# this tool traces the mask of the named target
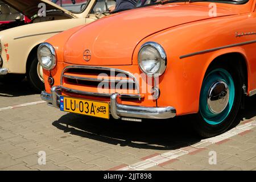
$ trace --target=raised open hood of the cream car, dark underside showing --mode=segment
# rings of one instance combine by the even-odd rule
[[[65,10],[63,7],[56,5],[48,0],[2,0],[7,5],[13,7],[15,10],[19,11],[23,15],[31,18],[35,14],[38,14],[39,3],[44,3],[46,5],[46,10],[61,10],[67,14],[73,15],[70,11]],[[75,16],[75,15],[73,15]]]

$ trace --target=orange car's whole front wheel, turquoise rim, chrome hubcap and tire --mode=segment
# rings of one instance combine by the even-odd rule
[[[224,133],[240,109],[242,80],[235,68],[213,67],[204,77],[195,129],[201,137]]]

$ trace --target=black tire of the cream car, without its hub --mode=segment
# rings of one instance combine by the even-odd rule
[[[33,89],[38,92],[44,90],[44,82],[40,80],[38,76],[38,59],[37,57],[32,60],[31,65],[27,72],[27,80]]]

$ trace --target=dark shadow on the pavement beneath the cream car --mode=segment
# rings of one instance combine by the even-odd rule
[[[1,82],[0,80],[0,97],[19,97],[38,93],[31,88],[26,78],[16,82]]]

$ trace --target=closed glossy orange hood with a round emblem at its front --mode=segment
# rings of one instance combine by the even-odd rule
[[[133,51],[141,40],[170,27],[209,19],[208,12],[208,3],[172,3],[112,14],[70,36],[64,48],[64,61],[84,65],[130,65]],[[231,10],[218,7],[217,16],[232,14]],[[88,54],[90,60],[85,61]]]

